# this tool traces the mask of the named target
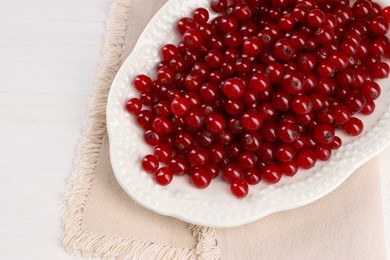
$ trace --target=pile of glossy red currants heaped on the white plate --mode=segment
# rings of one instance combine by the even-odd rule
[[[238,198],[326,161],[363,131],[389,75],[390,7],[368,0],[211,0],[177,22],[157,76],[138,75],[126,109],[161,185],[188,175],[206,188],[220,173]],[[144,106],[144,108],[143,108]]]

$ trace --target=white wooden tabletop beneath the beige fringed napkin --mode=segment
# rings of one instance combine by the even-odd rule
[[[110,4],[0,1],[0,259],[74,259],[59,242],[62,200]],[[389,191],[390,149],[382,158]]]

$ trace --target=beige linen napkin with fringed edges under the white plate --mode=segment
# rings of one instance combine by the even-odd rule
[[[64,213],[64,247],[109,259],[385,259],[378,163],[308,206],[229,229],[190,225],[136,204],[113,175],[107,94],[120,64],[164,0],[117,0]]]

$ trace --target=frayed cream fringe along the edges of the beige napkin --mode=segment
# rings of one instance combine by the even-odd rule
[[[83,231],[84,208],[101,156],[106,133],[106,103],[111,83],[120,68],[131,0],[115,0],[107,22],[103,61],[96,80],[95,94],[89,104],[83,138],[74,163],[74,173],[65,195],[62,244],[74,255],[105,259],[220,259],[215,230],[189,225],[197,239],[196,249],[124,239]]]

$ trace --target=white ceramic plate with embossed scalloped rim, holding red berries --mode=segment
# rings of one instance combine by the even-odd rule
[[[169,186],[153,181],[153,175],[140,167],[141,158],[151,153],[143,141],[142,130],[123,109],[129,97],[138,93],[131,87],[135,75],[155,75],[158,50],[166,43],[177,43],[176,21],[190,16],[197,7],[208,8],[209,0],[170,0],[146,27],[133,52],[118,72],[107,103],[107,127],[111,164],[122,188],[142,206],[157,213],[193,224],[232,227],[255,221],[271,213],[313,202],[336,189],[360,165],[379,153],[390,141],[390,80],[380,83],[382,95],[377,109],[361,117],[365,130],[350,138],[338,133],[343,146],[327,162],[310,170],[299,170],[294,177],[283,177],[276,185],[260,183],[250,187],[242,200],[231,195],[228,185],[214,180],[205,190],[189,184],[189,178],[176,177]],[[367,173],[369,178],[369,173]]]

